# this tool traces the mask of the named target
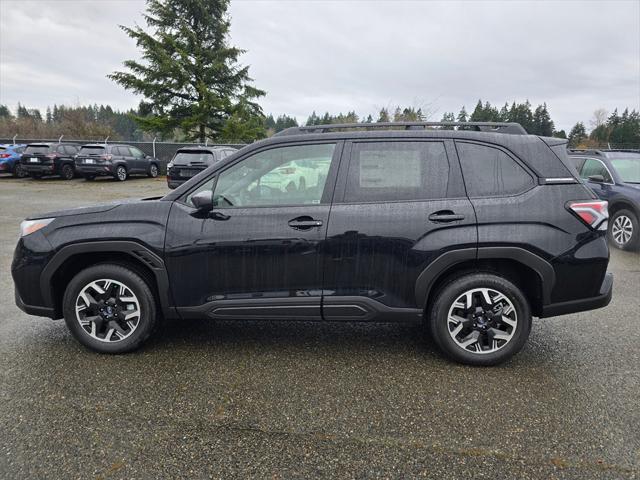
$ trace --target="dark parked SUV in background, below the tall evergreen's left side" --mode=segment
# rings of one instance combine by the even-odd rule
[[[124,182],[134,173],[157,177],[160,162],[131,145],[95,143],[82,146],[76,157],[76,170],[86,180],[106,175]]]

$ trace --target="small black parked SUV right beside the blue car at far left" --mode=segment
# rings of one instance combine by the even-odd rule
[[[30,143],[22,153],[20,165],[33,178],[59,175],[65,180],[72,180],[78,148],[72,143]]]

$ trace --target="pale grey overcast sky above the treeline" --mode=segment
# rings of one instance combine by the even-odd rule
[[[0,0],[0,103],[135,107],[106,78],[138,58],[119,24],[143,0]],[[640,109],[640,0],[231,3],[266,113],[414,105],[433,112],[547,102],[557,128],[597,108]]]

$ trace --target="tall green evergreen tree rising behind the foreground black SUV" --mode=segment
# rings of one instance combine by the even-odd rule
[[[204,142],[237,134],[235,126],[222,132],[232,116],[234,122],[258,117],[262,125],[256,100],[265,92],[251,85],[249,67],[238,64],[243,51],[228,45],[228,6],[229,0],[147,0],[148,31],[122,26],[144,62],[127,60],[126,71],[109,78],[144,96],[148,113],[136,116],[143,129],[179,129]]]

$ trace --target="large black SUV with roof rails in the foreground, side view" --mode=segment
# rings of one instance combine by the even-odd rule
[[[607,203],[566,141],[433,125],[296,127],[165,197],[32,216],[16,302],[100,352],[167,317],[424,320],[478,365],[519,351],[534,316],[607,305]]]

